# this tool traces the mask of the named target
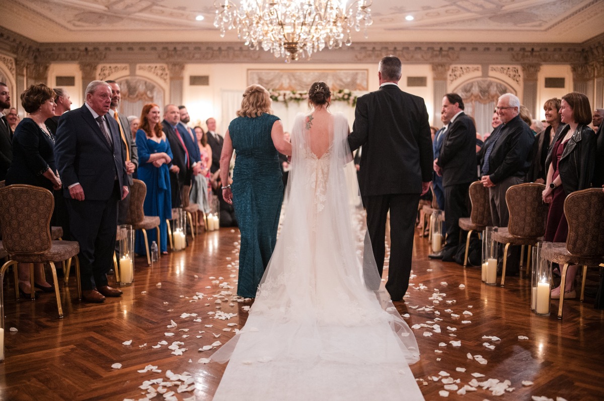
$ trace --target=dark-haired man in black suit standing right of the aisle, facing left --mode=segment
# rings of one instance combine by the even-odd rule
[[[457,93],[443,97],[442,119],[450,121],[434,159],[434,171],[443,177],[445,189],[445,247],[429,254],[432,259],[453,260],[459,245],[459,219],[469,217],[470,184],[476,179],[476,127],[464,112],[463,99]]]

